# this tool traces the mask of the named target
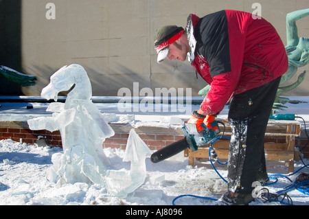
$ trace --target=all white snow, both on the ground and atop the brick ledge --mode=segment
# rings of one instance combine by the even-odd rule
[[[278,113],[295,113],[304,117],[309,124],[309,97],[290,97],[290,100],[301,101],[299,104],[286,104],[286,111]],[[25,120],[42,115],[48,104],[33,103],[33,108],[26,108],[27,103],[0,103],[0,121]],[[119,113],[117,104],[96,104],[108,122],[128,122],[132,126],[181,126],[179,119],[190,117],[190,111],[183,113]],[[196,110],[192,105],[190,110]],[[227,117],[228,107],[220,113]],[[304,128],[304,126],[302,126]],[[307,126],[308,127],[308,126]],[[58,185],[47,181],[47,170],[52,167],[52,154],[61,152],[61,148],[38,147],[12,140],[0,141],[0,205],[172,205],[174,198],[190,194],[218,199],[227,190],[225,181],[215,172],[208,159],[195,162],[195,166],[187,165],[183,153],[162,161],[152,163],[150,154],[146,157],[147,177],[143,185],[119,199],[108,194],[104,184],[88,185],[86,183]],[[124,150],[106,148],[104,152],[115,170],[130,169],[130,163],[123,162]],[[305,159],[308,164],[308,159]],[[215,168],[223,176],[227,176],[226,165],[215,163]],[[282,162],[267,161],[268,174],[287,174],[288,168]],[[295,162],[295,170],[304,166],[301,161]],[[308,172],[308,168],[300,172]],[[292,181],[300,173],[289,176]],[[284,177],[273,185],[268,185],[270,192],[277,192],[290,185]],[[297,189],[288,190],[294,205],[309,205],[309,196]],[[175,205],[212,205],[214,200],[183,197],[175,200]],[[251,205],[278,205],[279,203],[262,203],[260,200]]]

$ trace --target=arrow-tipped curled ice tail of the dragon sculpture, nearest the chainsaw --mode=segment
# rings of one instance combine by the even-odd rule
[[[130,130],[126,152],[123,161],[130,161],[130,171],[109,170],[106,172],[106,185],[108,192],[119,197],[126,196],[142,185],[146,178],[146,154],[150,149],[134,129]]]

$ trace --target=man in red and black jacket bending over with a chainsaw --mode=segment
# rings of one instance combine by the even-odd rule
[[[252,183],[268,178],[264,135],[288,57],[275,28],[262,18],[222,10],[199,18],[190,14],[187,27],[168,25],[156,32],[157,61],[185,61],[211,85],[188,123],[208,128],[225,104],[232,129],[229,146],[228,192],[220,199],[229,205],[253,200]]]

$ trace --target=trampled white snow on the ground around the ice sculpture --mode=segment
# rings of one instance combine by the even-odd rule
[[[12,140],[0,141],[0,205],[172,205],[172,200],[183,194],[220,198],[227,185],[216,174],[209,161],[196,161],[196,166],[187,165],[183,153],[152,163],[146,156],[146,178],[126,198],[117,198],[104,184],[67,183],[59,185],[47,180],[52,167],[52,155],[62,152],[61,148],[38,147]],[[104,149],[113,169],[130,170],[130,162],[123,162],[125,151]],[[305,160],[308,163],[308,160]],[[268,174],[286,174],[284,163],[267,162]],[[227,176],[226,166],[215,164],[223,177]],[[295,170],[303,165],[295,163]],[[305,168],[303,172],[308,172]],[[295,174],[296,178],[297,174]],[[293,178],[293,179],[294,179]],[[270,192],[284,189],[290,182],[285,178],[269,185]],[[294,205],[308,205],[309,196],[296,189],[288,192]],[[179,198],[176,205],[211,205],[214,201],[201,198]],[[252,205],[277,205],[261,203]]]

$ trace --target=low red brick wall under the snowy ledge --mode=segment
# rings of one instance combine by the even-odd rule
[[[111,124],[115,135],[104,141],[104,148],[126,148],[128,133],[132,127]],[[141,139],[149,146],[150,150],[159,150],[170,145],[174,141],[183,139],[182,130],[172,128],[157,127],[139,127],[135,131]],[[38,137],[45,137],[45,141],[49,146],[62,146],[61,135],[59,131],[49,132],[47,130],[30,130],[26,122],[0,122],[0,140],[12,139],[13,141],[22,141],[24,143],[36,143]],[[284,143],[284,139],[273,138],[266,139],[267,142]],[[305,158],[309,158],[308,139],[304,132],[300,137],[296,138],[296,148],[304,154]],[[306,146],[306,147],[305,147]]]

